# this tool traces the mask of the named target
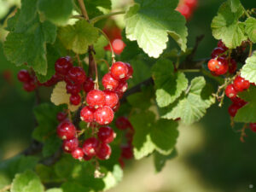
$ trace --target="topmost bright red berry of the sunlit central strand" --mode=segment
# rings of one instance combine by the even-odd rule
[[[110,69],[111,76],[117,80],[125,79],[128,75],[128,71],[128,67],[125,63],[120,61],[113,63]]]

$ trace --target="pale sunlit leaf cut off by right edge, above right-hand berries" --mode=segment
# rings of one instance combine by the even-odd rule
[[[241,68],[241,77],[256,84],[256,51],[247,58],[246,64]]]

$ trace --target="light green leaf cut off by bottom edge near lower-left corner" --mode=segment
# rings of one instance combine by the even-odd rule
[[[26,171],[15,176],[11,192],[44,192],[44,186],[39,177],[32,171]]]

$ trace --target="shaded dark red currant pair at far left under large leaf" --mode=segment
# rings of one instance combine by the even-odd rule
[[[23,83],[23,89],[27,92],[35,90],[39,85],[35,74],[29,73],[26,69],[21,69],[17,78]]]

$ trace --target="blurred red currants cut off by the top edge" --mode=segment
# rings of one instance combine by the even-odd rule
[[[197,6],[197,3],[197,0],[180,0],[176,10],[180,12],[186,20],[189,20]]]

